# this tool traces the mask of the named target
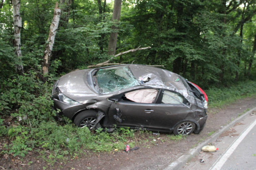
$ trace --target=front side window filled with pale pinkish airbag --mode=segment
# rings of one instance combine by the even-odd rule
[[[125,97],[137,103],[153,103],[157,93],[157,89],[139,89],[125,93]]]

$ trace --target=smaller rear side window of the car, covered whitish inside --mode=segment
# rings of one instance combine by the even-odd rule
[[[165,90],[163,92],[162,103],[163,104],[182,104],[184,98],[178,93]]]

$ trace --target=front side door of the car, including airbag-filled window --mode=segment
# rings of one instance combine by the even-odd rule
[[[113,103],[109,109],[109,123],[118,127],[149,127],[158,93],[159,89],[142,88],[110,98]]]

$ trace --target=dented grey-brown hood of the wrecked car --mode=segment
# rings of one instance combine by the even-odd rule
[[[58,80],[59,90],[67,97],[81,102],[97,96],[88,84],[87,75],[91,69],[78,70],[63,75]]]

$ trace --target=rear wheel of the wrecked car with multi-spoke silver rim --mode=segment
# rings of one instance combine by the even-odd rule
[[[179,123],[174,129],[175,135],[190,135],[195,130],[195,123],[191,121],[183,121]]]

